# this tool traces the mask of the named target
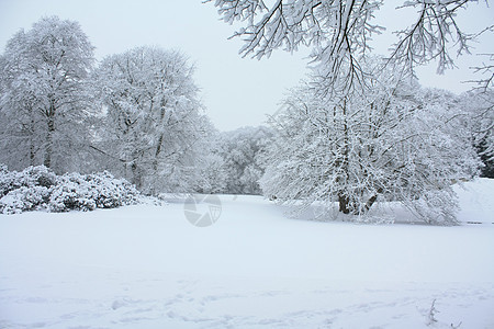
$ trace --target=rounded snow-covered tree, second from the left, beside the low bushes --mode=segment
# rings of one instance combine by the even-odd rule
[[[193,67],[177,52],[138,47],[109,56],[96,72],[105,110],[98,149],[112,172],[147,193],[190,191],[212,126]]]

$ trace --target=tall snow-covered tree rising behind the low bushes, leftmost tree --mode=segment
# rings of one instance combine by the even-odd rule
[[[93,47],[79,24],[44,18],[7,44],[1,65],[0,161],[14,169],[80,169],[90,116]]]

